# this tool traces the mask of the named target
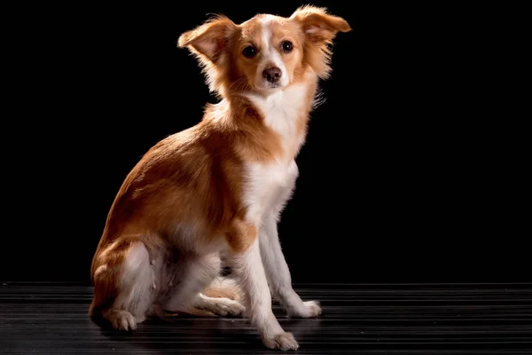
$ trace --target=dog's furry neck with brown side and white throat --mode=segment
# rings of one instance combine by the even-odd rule
[[[239,152],[251,154],[252,160],[292,162],[305,141],[316,93],[313,71],[267,94],[226,93],[218,104],[207,105],[204,123],[222,133],[231,132]]]

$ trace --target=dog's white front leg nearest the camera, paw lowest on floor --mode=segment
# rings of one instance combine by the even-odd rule
[[[233,234],[230,243],[238,246],[231,260],[235,276],[244,291],[247,317],[257,327],[262,343],[268,348],[297,350],[299,344],[291,333],[283,330],[271,310],[270,289],[262,265],[256,228],[246,228],[246,233],[254,235]]]

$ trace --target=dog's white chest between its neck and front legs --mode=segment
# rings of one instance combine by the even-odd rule
[[[295,161],[248,164],[244,188],[246,219],[261,225],[264,217],[278,215],[290,199],[299,171]]]

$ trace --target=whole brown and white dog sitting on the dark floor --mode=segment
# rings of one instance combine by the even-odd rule
[[[277,223],[318,80],[331,71],[332,39],[350,29],[304,6],[239,25],[218,16],[179,37],[221,100],[126,177],[92,262],[92,317],[128,330],[161,312],[246,315],[268,348],[299,347],[271,311],[271,295],[293,317],[321,308],[293,291]],[[222,256],[233,281],[219,278]]]

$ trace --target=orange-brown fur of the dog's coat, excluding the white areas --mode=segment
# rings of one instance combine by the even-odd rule
[[[175,249],[200,254],[208,244],[226,243],[231,252],[242,253],[257,238],[257,228],[245,222],[242,205],[245,162],[293,159],[305,137],[309,111],[317,83],[307,83],[305,105],[298,116],[293,144],[283,147],[278,133],[242,91],[254,91],[254,59],[240,55],[252,43],[260,50],[257,19],[241,25],[223,16],[184,33],[180,47],[199,59],[207,83],[223,101],[208,105],[203,120],[153,146],[131,170],[116,195],[91,265],[94,298],[90,313],[109,309],[117,297],[121,265],[136,242],[148,253],[171,256]],[[309,28],[314,28],[306,32]],[[347,22],[322,9],[304,7],[289,19],[271,24],[274,40],[293,42],[283,54],[291,83],[305,81],[310,69],[329,74],[331,52],[327,45]],[[312,44],[309,44],[312,43]],[[256,70],[255,70],[256,71]],[[186,221],[197,229],[197,239],[176,237],[176,225]],[[239,299],[239,291],[223,286],[205,290],[207,296]],[[196,310],[197,311],[197,310]],[[199,314],[200,311],[194,314]]]

